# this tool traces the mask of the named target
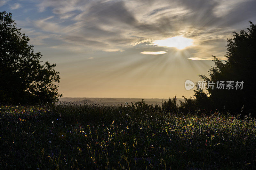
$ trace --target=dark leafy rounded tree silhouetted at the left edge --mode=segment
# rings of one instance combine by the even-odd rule
[[[42,55],[28,45],[29,38],[16,27],[11,13],[0,12],[0,103],[52,103],[58,93],[56,64],[41,64]]]

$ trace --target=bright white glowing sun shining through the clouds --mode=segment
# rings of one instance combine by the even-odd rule
[[[171,37],[164,40],[153,41],[153,44],[160,47],[175,47],[178,49],[184,49],[188,46],[192,46],[194,43],[193,43],[193,40],[190,38],[176,36],[176,37]]]

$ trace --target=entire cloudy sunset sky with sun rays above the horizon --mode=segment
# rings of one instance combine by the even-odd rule
[[[232,31],[256,23],[255,0],[0,0],[63,97],[181,98],[185,81],[225,60]]]

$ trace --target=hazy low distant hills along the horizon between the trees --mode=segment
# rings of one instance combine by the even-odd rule
[[[171,98],[172,99],[172,98]],[[143,99],[146,104],[158,104],[162,106],[162,101],[168,100],[168,99]],[[184,99],[177,98],[177,104],[180,104],[180,100],[184,101]],[[115,105],[115,106],[121,106],[121,105],[131,105],[132,103],[135,103],[137,101],[141,101],[141,98],[86,98],[86,97],[80,97],[80,98],[72,98],[72,97],[61,97],[59,98],[59,103],[69,103],[69,104],[99,104],[99,105]]]

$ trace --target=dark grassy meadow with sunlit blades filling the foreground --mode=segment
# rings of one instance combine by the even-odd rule
[[[256,120],[109,106],[0,107],[0,167],[253,169]]]

